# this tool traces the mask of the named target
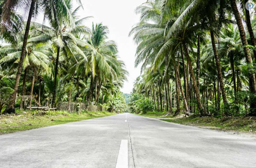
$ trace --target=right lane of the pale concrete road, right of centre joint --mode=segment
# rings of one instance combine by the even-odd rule
[[[131,115],[136,167],[256,167],[256,139]]]

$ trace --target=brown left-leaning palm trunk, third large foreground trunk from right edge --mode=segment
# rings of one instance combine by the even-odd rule
[[[193,67],[191,64],[191,58],[189,56],[189,51],[187,51],[187,46],[185,44],[185,42],[183,42],[183,46],[184,46],[184,50],[185,50],[185,56],[187,58],[187,63],[189,64],[189,70],[190,70],[190,74],[192,77],[192,82],[194,84],[194,91],[196,92],[196,100],[198,101],[198,110],[201,113],[201,115],[205,115],[205,110],[203,108],[203,105],[201,103],[201,98],[200,98],[200,94],[199,94],[199,89],[198,89],[198,85],[196,83],[196,77],[194,76],[194,71],[193,71]]]

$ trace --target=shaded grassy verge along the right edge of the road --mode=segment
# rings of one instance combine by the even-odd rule
[[[188,126],[206,127],[222,131],[256,132],[256,117],[184,117],[179,119],[163,119],[166,122],[184,124]]]

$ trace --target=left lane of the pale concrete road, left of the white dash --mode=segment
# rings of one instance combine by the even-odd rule
[[[125,115],[0,136],[0,167],[116,167]]]

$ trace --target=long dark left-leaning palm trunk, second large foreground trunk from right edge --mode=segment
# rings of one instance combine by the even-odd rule
[[[225,113],[226,113],[226,115],[228,115],[227,109],[229,107],[229,104],[227,103],[227,97],[226,97],[226,91],[225,91],[223,77],[222,77],[220,59],[219,59],[219,56],[218,56],[218,53],[217,53],[217,48],[216,48],[216,44],[215,44],[215,37],[214,37],[214,34],[213,34],[213,30],[210,30],[210,34],[211,34],[212,48],[213,48],[213,53],[214,53],[217,72],[218,72],[218,78],[219,78],[219,81],[220,81],[220,89],[221,89],[221,93],[222,93],[222,99],[224,101]]]

